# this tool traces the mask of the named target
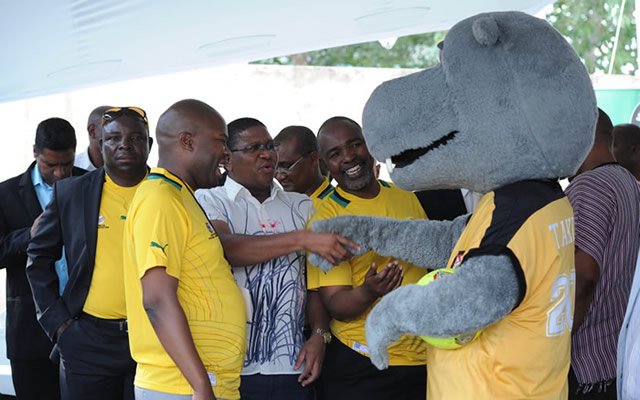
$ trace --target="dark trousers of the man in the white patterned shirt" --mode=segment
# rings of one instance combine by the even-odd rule
[[[242,375],[242,400],[312,400],[311,387],[302,387],[295,375]]]

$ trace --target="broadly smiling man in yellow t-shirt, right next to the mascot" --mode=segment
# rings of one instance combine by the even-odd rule
[[[411,192],[378,181],[374,160],[353,120],[334,117],[318,133],[320,157],[338,186],[318,207],[314,220],[338,215],[426,218]],[[381,267],[381,268],[378,268]],[[424,399],[426,344],[403,336],[389,349],[391,367],[377,370],[369,360],[364,323],[382,296],[401,284],[415,283],[426,270],[398,266],[372,251],[345,261],[327,273],[309,265],[309,289],[319,288],[333,317],[333,342],[327,348],[324,385],[330,399]]]

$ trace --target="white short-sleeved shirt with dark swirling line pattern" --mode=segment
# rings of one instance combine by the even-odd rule
[[[311,199],[271,185],[260,203],[230,177],[224,186],[196,191],[210,220],[224,221],[232,233],[272,235],[305,229],[314,213]],[[247,303],[247,356],[242,375],[299,374],[296,357],[304,344],[306,302],[304,252],[250,266],[234,266],[233,275]]]

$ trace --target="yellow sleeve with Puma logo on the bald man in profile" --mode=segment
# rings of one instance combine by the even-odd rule
[[[175,193],[147,193],[136,204],[131,217],[138,278],[160,266],[180,279],[189,232],[189,219],[180,198]]]

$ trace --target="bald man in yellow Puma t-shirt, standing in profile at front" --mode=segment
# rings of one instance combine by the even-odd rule
[[[239,399],[244,301],[193,194],[218,184],[226,124],[207,104],[182,100],[162,114],[156,135],[158,168],[136,193],[125,229],[136,398]]]

